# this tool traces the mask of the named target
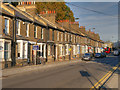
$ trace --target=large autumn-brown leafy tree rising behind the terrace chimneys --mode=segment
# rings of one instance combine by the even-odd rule
[[[56,21],[71,20],[75,21],[73,12],[65,4],[65,2],[36,2],[37,13],[42,11],[56,11]]]

